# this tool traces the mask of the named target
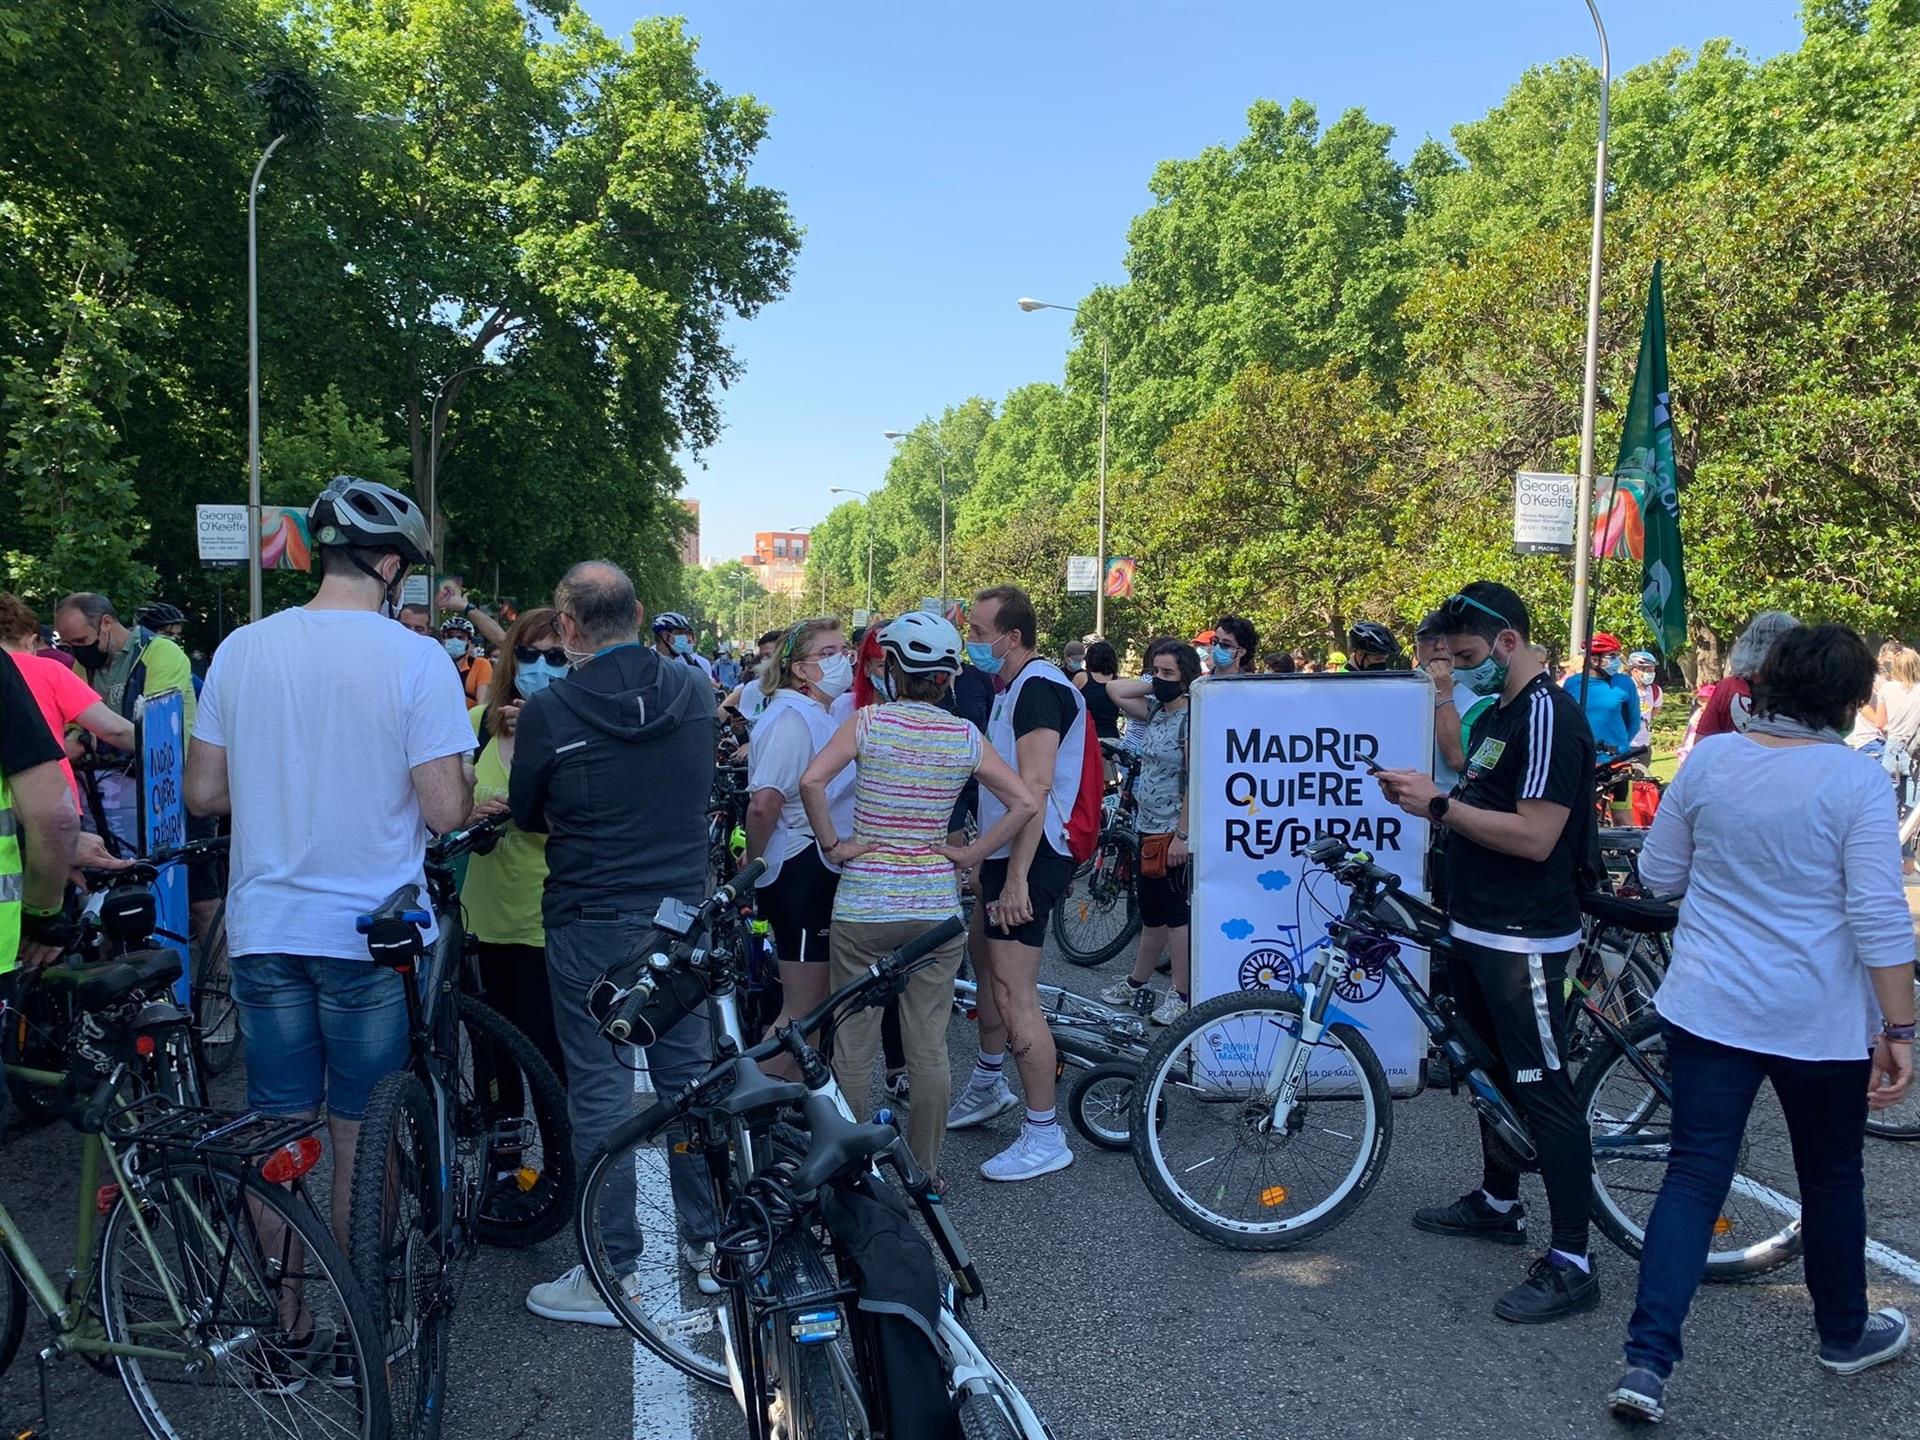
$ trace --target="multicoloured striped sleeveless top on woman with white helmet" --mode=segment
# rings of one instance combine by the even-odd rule
[[[956,872],[937,847],[947,843],[947,820],[983,743],[973,726],[935,705],[899,701],[860,710],[852,837],[879,849],[847,864],[835,920],[947,920],[960,912]]]

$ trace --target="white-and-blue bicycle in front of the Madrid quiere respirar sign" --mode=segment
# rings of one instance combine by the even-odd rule
[[[1452,1062],[1492,1144],[1515,1169],[1536,1167],[1526,1121],[1494,1079],[1501,1068],[1492,1050],[1400,958],[1402,939],[1446,958],[1446,918],[1338,837],[1313,841],[1302,856],[1350,893],[1298,993],[1225,995],[1194,1006],[1148,1050],[1133,1092],[1133,1158],[1148,1192],[1188,1231],[1229,1248],[1304,1244],[1373,1190],[1392,1140],[1392,1092],[1367,1039],[1329,1012],[1336,1000],[1369,1000],[1388,983]],[[1584,900],[1590,914],[1592,904]],[[1603,1041],[1576,1081],[1594,1142],[1594,1217],[1609,1240],[1638,1256],[1667,1169],[1672,1085],[1665,1043],[1657,1018],[1622,1029],[1584,987],[1574,991],[1584,1021]],[[1778,1108],[1763,1114],[1759,1129],[1768,1135],[1763,1142],[1749,1125],[1715,1227],[1711,1279],[1761,1275],[1799,1254],[1797,1206],[1780,1188],[1793,1185],[1793,1164]],[[1235,1175],[1244,1194],[1229,1200]]]

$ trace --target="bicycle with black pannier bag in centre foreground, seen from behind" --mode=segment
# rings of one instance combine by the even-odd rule
[[[670,925],[678,924],[670,918]],[[943,922],[766,1043],[751,1050],[722,1046],[703,1079],[628,1121],[588,1167],[580,1246],[595,1288],[626,1329],[670,1365],[707,1384],[732,1386],[749,1440],[906,1436],[887,1421],[895,1398],[879,1359],[883,1321],[858,1304],[858,1265],[833,1215],[835,1200],[847,1196],[904,1212],[879,1165],[899,1177],[952,1277],[933,1332],[945,1398],[958,1411],[960,1432],[968,1440],[1050,1436],[966,1327],[966,1300],[983,1298],[983,1284],[931,1179],[891,1123],[851,1119],[826,1058],[804,1039],[820,1031],[822,1046],[831,1048],[845,1016],[883,1006],[927,956],[960,933],[958,918]],[[703,987],[710,989],[712,962],[703,962],[699,947],[682,935],[678,945],[647,958],[643,977],[664,985],[703,972],[708,975]],[[634,987],[603,995],[593,1014],[605,1033],[618,1037],[647,1004],[651,991]],[[770,1079],[760,1062],[776,1056],[791,1058],[803,1081]],[[684,1144],[707,1162],[724,1217],[716,1277],[726,1298],[708,1308],[695,1302],[674,1315],[641,1315],[636,1300],[645,1279],[636,1286],[636,1277],[614,1271],[599,1194],[616,1173],[647,1165],[662,1144]],[[645,1246],[643,1267],[655,1250]],[[703,1344],[693,1348],[689,1340]]]

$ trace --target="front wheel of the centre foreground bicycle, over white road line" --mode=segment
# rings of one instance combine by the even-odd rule
[[[649,1133],[645,1117],[607,1139],[580,1177],[574,1206],[580,1256],[607,1308],[636,1340],[695,1380],[726,1388],[720,1327],[726,1298],[701,1294],[693,1273],[680,1263],[668,1160],[684,1144],[684,1125]]]

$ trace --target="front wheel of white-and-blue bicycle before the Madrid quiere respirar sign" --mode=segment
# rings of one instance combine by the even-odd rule
[[[1223,995],[1162,1031],[1140,1062],[1133,1162],[1160,1208],[1213,1244],[1304,1244],[1346,1219],[1386,1162],[1386,1071],[1346,1023],[1315,1046],[1284,1133],[1271,1129],[1269,1075],[1298,1035],[1298,995]]]

